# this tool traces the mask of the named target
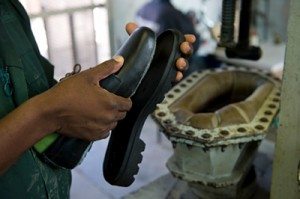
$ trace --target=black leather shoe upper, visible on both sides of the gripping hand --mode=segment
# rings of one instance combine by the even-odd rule
[[[116,53],[124,57],[123,67],[100,82],[106,90],[123,97],[132,96],[145,76],[156,46],[155,33],[146,27],[135,30]],[[92,142],[60,135],[41,157],[51,165],[72,169],[85,157]]]

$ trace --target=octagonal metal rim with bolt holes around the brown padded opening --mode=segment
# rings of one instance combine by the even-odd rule
[[[209,74],[213,73],[223,73],[223,72],[244,72],[250,75],[259,76],[259,78],[264,79],[264,81],[269,82],[273,85],[267,98],[262,103],[261,107],[257,110],[257,113],[253,119],[248,123],[237,123],[233,125],[220,126],[216,128],[195,128],[191,125],[184,124],[176,119],[174,112],[170,110],[170,106],[177,100],[182,98],[189,90],[191,90],[195,85],[197,85],[203,78]],[[193,79],[193,81],[191,81]],[[180,92],[179,92],[180,91]],[[171,139],[178,142],[190,142],[194,141],[196,145],[199,146],[219,146],[228,145],[238,142],[250,142],[255,140],[261,140],[266,135],[266,130],[271,124],[273,118],[276,116],[279,103],[280,103],[280,82],[276,81],[274,78],[267,75],[267,72],[262,72],[258,69],[251,68],[235,68],[227,67],[226,69],[216,69],[215,71],[203,71],[201,73],[195,72],[187,79],[183,80],[181,83],[176,85],[172,90],[166,94],[166,98],[163,103],[157,105],[157,110],[154,112],[154,117],[163,129],[166,128],[166,124],[169,125],[172,121],[173,126],[179,129],[177,134],[173,132],[164,131]],[[159,113],[165,113],[163,117]],[[193,131],[194,134],[191,136],[189,133]],[[230,132],[225,136],[221,132]],[[207,138],[206,134],[211,136]],[[204,136],[203,136],[204,135]],[[221,137],[220,137],[221,136]],[[205,137],[205,139],[204,139]],[[186,140],[182,139],[186,138]]]

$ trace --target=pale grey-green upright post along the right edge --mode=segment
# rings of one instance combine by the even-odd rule
[[[272,199],[299,199],[300,160],[300,1],[291,0],[288,42],[281,92],[281,111],[273,176]]]

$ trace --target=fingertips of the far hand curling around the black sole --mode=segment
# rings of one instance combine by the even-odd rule
[[[126,24],[126,31],[130,35],[138,25],[135,23]],[[180,45],[181,52],[185,55],[185,57],[189,57],[193,53],[192,44],[196,41],[195,35],[187,34],[185,36],[185,41]],[[177,74],[176,81],[180,81],[183,78],[182,72],[188,69],[188,60],[184,57],[180,57],[176,61],[177,66]]]

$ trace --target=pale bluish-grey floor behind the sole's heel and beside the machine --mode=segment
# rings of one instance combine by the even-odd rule
[[[144,159],[140,164],[140,171],[136,175],[135,182],[125,188],[112,186],[104,180],[102,161],[108,139],[95,142],[83,163],[72,172],[71,199],[122,198],[167,174],[168,170],[165,163],[172,154],[172,147],[162,134],[158,134],[158,131],[156,123],[149,117],[141,134],[146,143],[146,149],[143,153]],[[268,137],[273,139],[274,135],[269,134]],[[274,142],[272,139],[265,139],[262,142],[254,160],[259,186],[266,191],[270,189],[271,184],[274,155]]]

